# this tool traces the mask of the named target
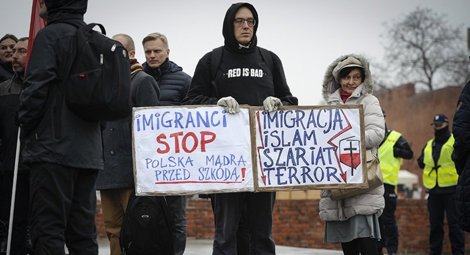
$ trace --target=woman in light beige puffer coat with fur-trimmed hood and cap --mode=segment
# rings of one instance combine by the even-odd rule
[[[377,155],[385,135],[385,121],[372,91],[369,63],[363,56],[342,56],[326,70],[323,98],[328,105],[363,105],[365,147]],[[340,242],[346,255],[377,254],[377,240],[381,238],[379,216],[385,207],[383,195],[383,185],[340,200],[332,200],[328,191],[322,190],[319,215],[325,221],[323,242]]]

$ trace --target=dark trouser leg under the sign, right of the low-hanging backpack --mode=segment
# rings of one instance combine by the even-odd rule
[[[165,196],[173,222],[174,255],[182,255],[186,248],[186,196]]]

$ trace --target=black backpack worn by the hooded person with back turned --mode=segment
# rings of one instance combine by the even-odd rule
[[[101,33],[92,29],[95,26]],[[65,87],[59,87],[68,108],[87,121],[129,116],[132,101],[127,50],[108,38],[101,24],[78,27],[76,37],[77,57]]]

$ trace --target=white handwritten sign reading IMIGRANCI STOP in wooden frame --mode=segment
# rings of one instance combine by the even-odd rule
[[[215,109],[217,108],[217,109]],[[238,145],[233,145],[233,144],[228,144],[228,149],[225,148],[225,151],[241,151],[243,150],[242,152],[240,152],[239,154],[237,154],[237,156],[240,156],[240,155],[243,155],[243,156],[246,156],[246,159],[245,157],[243,158],[244,161],[246,161],[246,164],[247,166],[246,167],[243,167],[243,166],[240,166],[235,169],[236,167],[231,167],[229,168],[229,171],[230,173],[233,175],[236,175],[235,177],[240,177],[240,178],[236,178],[236,181],[232,181],[232,180],[228,180],[228,181],[214,181],[214,180],[207,180],[206,179],[198,179],[198,180],[170,180],[170,181],[162,181],[162,180],[151,180],[153,177],[152,177],[152,173],[151,171],[152,170],[147,170],[148,173],[146,174],[143,174],[142,172],[144,171],[143,169],[145,169],[144,167],[142,167],[142,162],[143,162],[143,159],[145,158],[140,158],[140,157],[143,157],[142,155],[144,155],[144,153],[141,153],[139,152],[139,158],[137,159],[136,157],[136,143],[139,143],[142,147],[143,147],[143,143],[140,142],[140,139],[143,139],[145,140],[145,144],[147,147],[149,147],[147,145],[147,143],[155,143],[155,140],[156,138],[158,139],[158,137],[160,136],[160,133],[158,132],[152,132],[151,134],[153,135],[150,135],[150,139],[145,139],[143,138],[144,136],[142,135],[138,135],[139,137],[139,141],[136,141],[136,135],[135,134],[135,130],[136,130],[136,126],[140,125],[140,126],[143,126],[144,124],[144,120],[140,120],[140,122],[138,120],[136,120],[136,114],[140,114],[140,113],[146,113],[147,110],[151,110],[151,111],[155,111],[155,114],[157,113],[162,113],[163,111],[166,111],[166,110],[170,110],[170,109],[180,109],[181,111],[180,112],[184,112],[184,111],[190,111],[190,110],[197,110],[197,109],[215,109],[213,110],[214,112],[215,111],[218,111],[219,114],[222,114],[224,115],[224,121],[226,121],[226,128],[228,128],[229,130],[232,130],[234,133],[237,133],[237,134],[240,134],[239,137],[237,137],[236,135],[233,136],[233,137],[229,137],[231,139],[231,141],[235,140],[235,139],[242,139],[243,141],[243,144],[244,141],[245,141],[245,138],[246,138],[246,144],[247,144],[247,149],[244,150],[243,149],[243,146],[241,147],[242,149],[238,148]],[[186,110],[185,110],[186,109]],[[242,191],[254,191],[253,189],[253,174],[252,174],[252,155],[251,155],[251,150],[250,150],[250,141],[251,141],[251,137],[250,137],[250,126],[249,126],[249,107],[248,106],[240,106],[240,109],[242,110],[242,114],[243,116],[246,116],[246,117],[242,117],[241,113],[238,113],[237,115],[232,115],[232,114],[229,114],[229,113],[225,113],[225,111],[223,110],[222,107],[219,107],[219,106],[214,106],[214,105],[211,105],[211,106],[206,106],[206,105],[200,105],[200,106],[174,106],[174,107],[140,107],[140,108],[133,108],[133,111],[132,111],[132,157],[133,157],[133,171],[134,171],[134,185],[135,185],[135,194],[136,195],[186,195],[186,194],[197,194],[197,193],[229,193],[229,192],[242,192]],[[209,111],[212,111],[212,110],[209,110]],[[174,113],[177,113],[175,111],[173,111]],[[173,113],[172,112],[172,113]],[[213,112],[213,113],[214,113]],[[156,115],[155,115],[156,116]],[[154,117],[155,117],[154,116]],[[160,115],[161,116],[161,115]],[[239,116],[239,117],[238,117]],[[150,117],[150,115],[149,115]],[[143,118],[142,116],[138,117],[138,118]],[[163,116],[161,116],[160,118],[162,118],[161,122],[163,122]],[[209,114],[209,118],[211,118],[210,114]],[[231,119],[240,119],[242,118],[242,121],[243,123],[246,123],[246,124],[241,124],[240,126],[244,126],[246,127],[246,130],[244,127],[240,127],[239,125],[237,126],[233,126],[233,123],[230,121]],[[181,119],[179,122],[183,123],[184,121],[184,117],[183,119]],[[194,117],[194,122],[196,122],[196,117]],[[212,120],[211,120],[212,121]],[[215,120],[215,122],[219,121],[220,122],[220,125],[222,125],[222,123],[225,123],[224,121],[222,121],[222,119],[218,119],[218,120]],[[137,123],[137,124],[136,124]],[[199,123],[199,119],[198,119],[198,123]],[[238,124],[238,122],[234,122],[234,124]],[[184,126],[184,124],[182,124]],[[219,125],[219,127],[220,127]],[[230,127],[230,125],[232,125]],[[176,124],[174,124],[174,126],[176,126]],[[213,128],[211,126],[211,128]],[[236,130],[234,130],[236,129]],[[196,134],[199,134],[199,129],[196,128],[196,129],[181,129],[181,130],[172,130],[171,128],[169,129],[170,131],[174,132],[174,131],[185,131],[187,133],[187,131],[194,131],[194,133]],[[170,132],[168,131],[168,132]],[[214,130],[212,130],[214,131]],[[215,131],[217,132],[217,131]],[[163,134],[163,131],[162,131],[162,134]],[[246,135],[245,135],[246,134]],[[202,135],[202,133],[201,133]],[[228,137],[226,135],[226,137]],[[166,138],[168,138],[168,134],[166,134]],[[187,140],[189,140],[189,146],[191,147],[195,147],[196,145],[193,146],[193,144],[191,143],[193,140],[192,138],[188,138]],[[216,139],[218,143],[220,143],[218,141],[218,139]],[[148,142],[147,142],[148,141]],[[180,146],[180,154],[183,154],[182,150],[183,150],[183,146],[182,146],[182,142],[184,141],[184,137],[181,135],[180,136],[180,139],[179,139],[179,142],[181,142],[181,146]],[[158,141],[157,141],[158,142]],[[200,139],[200,142],[202,143],[202,138]],[[174,142],[173,142],[176,146],[176,138],[174,138]],[[243,145],[242,144],[242,145]],[[172,147],[172,144],[170,142],[168,142],[168,145],[170,148],[170,150],[173,150],[173,147]],[[212,154],[217,154],[218,152],[220,151],[223,151],[224,148],[210,148],[209,147],[210,144],[206,144],[205,145],[205,148],[206,148],[206,152],[208,152],[208,154],[212,153]],[[160,148],[164,147],[163,145],[159,144],[158,146],[160,146]],[[200,147],[197,147],[197,150],[199,150]],[[159,156],[158,155],[158,151],[156,152],[155,149],[158,150],[158,147],[152,147],[152,148],[145,148],[146,151],[148,152],[152,152],[153,155],[155,158],[159,158],[161,157],[162,158],[162,161],[163,160],[163,157],[165,156]],[[139,151],[140,151],[140,148],[139,148]],[[215,152],[214,152],[215,151]],[[248,152],[247,152],[248,151]],[[209,153],[210,152],[210,153]],[[221,154],[222,152],[220,152]],[[193,153],[190,152],[189,154],[186,154],[187,158],[190,158],[191,156],[188,156],[188,155],[192,155]],[[146,155],[150,155],[150,154],[146,154]],[[175,154],[169,154],[170,157],[173,157],[175,156]],[[182,155],[181,155],[182,156]],[[201,160],[201,159],[198,159],[198,156],[199,157],[205,157],[204,153],[203,152],[200,152],[199,154],[196,154],[196,160],[195,158],[193,157],[192,160],[194,160],[194,162],[197,162],[198,160]],[[149,157],[150,158],[150,157]],[[152,158],[153,159],[153,158]],[[222,160],[222,159],[220,159]],[[231,164],[231,166],[234,166],[232,164],[232,162],[240,162],[240,158],[230,158],[228,159]],[[175,160],[174,160],[175,161]],[[186,159],[183,160],[183,163],[184,161],[187,161]],[[215,162],[216,160],[214,159],[212,162]],[[138,162],[138,163],[137,163]],[[140,164],[140,165],[139,165]],[[152,162],[153,164],[153,162]],[[178,163],[179,164],[179,163]],[[207,159],[206,159],[206,164],[207,164]],[[221,165],[225,165],[224,163],[221,163]],[[154,168],[153,170],[155,171],[164,171],[166,170],[166,168],[163,168],[163,167],[166,167],[164,166],[164,164],[156,162],[155,165],[157,165],[157,168]],[[193,164],[191,164],[193,165]],[[162,166],[162,167],[160,167]],[[186,164],[186,167],[188,165]],[[200,167],[201,165],[198,165],[198,168]],[[215,163],[214,163],[214,166],[215,168]],[[149,167],[147,167],[149,168]],[[198,168],[195,168],[195,167],[190,167],[190,172],[191,173],[197,173],[197,169]],[[243,169],[245,168],[245,169]],[[137,170],[139,169],[139,171],[141,171],[140,173],[137,172]],[[186,169],[187,170],[187,169]],[[205,169],[203,169],[205,170]],[[225,171],[227,171],[225,168],[224,168]],[[199,169],[199,171],[201,171],[201,169]],[[212,170],[207,170],[207,172],[209,171],[212,171]],[[236,173],[235,173],[236,172]],[[217,172],[217,173],[220,173],[220,172]],[[180,172],[181,174],[181,172]],[[199,173],[198,173],[199,174]],[[209,174],[208,175],[209,177],[211,177],[211,175]],[[180,176],[181,177],[181,176]],[[207,177],[207,175],[206,175]],[[235,178],[233,177],[233,178]],[[152,184],[153,182],[153,184]],[[169,185],[168,185],[169,184]],[[153,185],[153,186],[152,186]],[[199,187],[199,188],[196,188],[196,189],[190,189],[191,187],[189,187],[191,185],[191,187]],[[185,186],[185,187],[183,187]],[[160,188],[161,189],[158,189]],[[179,187],[179,189],[178,189]],[[204,188],[202,188],[204,187]],[[207,187],[212,187],[212,188],[207,188]],[[157,190],[158,189],[158,190]]]

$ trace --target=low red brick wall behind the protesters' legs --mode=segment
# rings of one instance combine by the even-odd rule
[[[100,206],[100,205],[99,205]],[[427,201],[422,199],[400,199],[396,211],[399,248],[402,254],[427,254],[429,252],[429,218]],[[212,239],[214,218],[210,200],[187,200],[187,237]],[[273,237],[276,244],[295,247],[341,249],[340,244],[324,244],[324,222],[318,216],[318,199],[277,200],[273,213]],[[105,237],[102,219],[97,217],[100,236]],[[447,224],[444,225],[444,252],[451,254]],[[465,233],[470,240],[470,233]],[[470,252],[470,242],[466,244]]]

